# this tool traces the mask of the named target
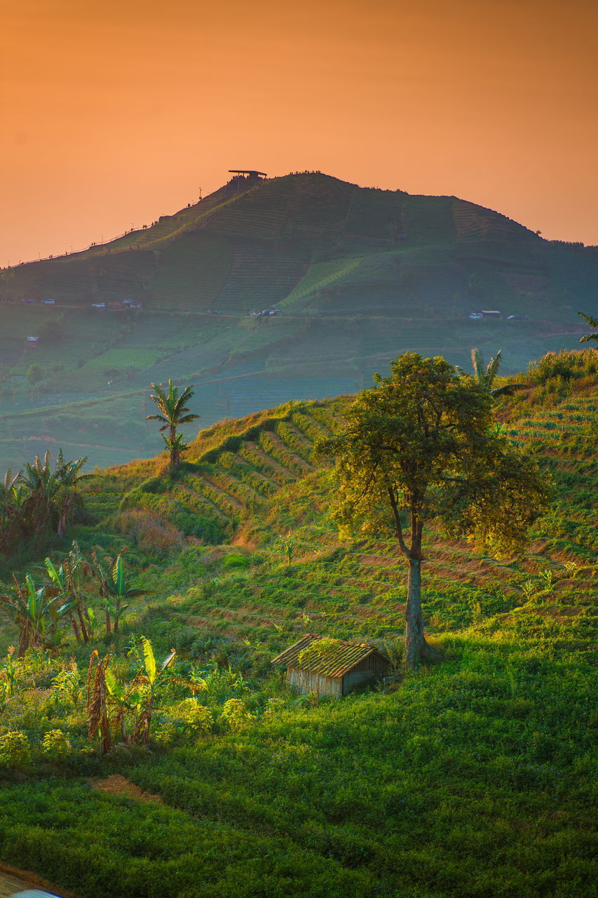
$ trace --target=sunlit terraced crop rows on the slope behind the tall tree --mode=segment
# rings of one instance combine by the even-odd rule
[[[205,573],[189,594],[170,600],[172,620],[273,646],[306,626],[344,638],[400,636],[404,561],[390,539],[339,536],[329,518],[331,471],[314,453],[317,440],[341,426],[348,401],[290,403],[212,427],[198,436],[174,480],[156,478],[153,462],[101,475],[98,498],[90,496],[88,506],[101,518],[125,515],[129,539],[143,547],[147,528],[155,526],[174,528],[181,541],[207,544]],[[550,409],[535,413],[524,397],[517,402],[506,433],[538,456],[558,500],[519,559],[494,558],[436,530],[428,534],[425,594],[432,632],[516,614],[529,603],[547,621],[584,621],[593,613],[595,376]],[[508,417],[513,409],[505,401],[502,413]],[[277,548],[279,533],[294,540],[290,565]],[[210,549],[210,543],[231,543],[250,567],[223,567],[231,549]]]

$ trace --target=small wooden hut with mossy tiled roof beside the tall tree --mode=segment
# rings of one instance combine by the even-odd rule
[[[388,674],[391,662],[375,646],[306,633],[272,658],[286,667],[286,682],[300,692],[341,698],[356,686]]]

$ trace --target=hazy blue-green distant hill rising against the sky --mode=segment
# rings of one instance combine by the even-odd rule
[[[592,249],[546,242],[462,199],[320,173],[238,187],[119,240],[2,271],[0,471],[57,442],[92,466],[158,451],[147,393],[169,377],[197,385],[207,427],[355,392],[406,350],[467,365],[472,346],[502,348],[514,373],[574,348],[578,309],[598,313]],[[504,320],[470,321],[488,308]]]

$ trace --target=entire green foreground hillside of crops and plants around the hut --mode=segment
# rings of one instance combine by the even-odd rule
[[[407,561],[391,528],[339,532],[339,485],[314,452],[349,399],[209,427],[173,470],[157,458],[85,480],[90,517],[69,537],[95,550],[77,586],[89,641],[68,611],[52,636],[41,606],[21,658],[19,622],[0,630],[0,858],[87,898],[590,898],[595,353],[543,357],[517,383],[495,429],[553,501],[520,555],[427,528],[422,613],[442,661],[418,675],[403,667]],[[37,552],[4,560],[0,592],[14,569],[51,599]],[[97,613],[117,567],[118,629]],[[344,700],[288,691],[269,662],[306,630],[373,640],[395,682]]]

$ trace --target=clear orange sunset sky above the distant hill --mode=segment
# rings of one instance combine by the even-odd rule
[[[596,0],[0,0],[0,264],[233,167],[454,194],[598,244]]]

